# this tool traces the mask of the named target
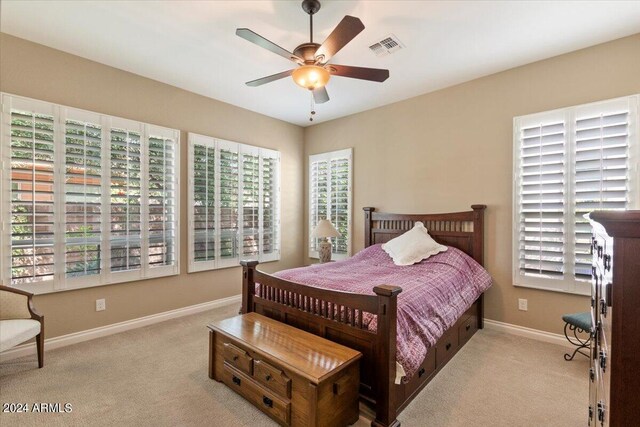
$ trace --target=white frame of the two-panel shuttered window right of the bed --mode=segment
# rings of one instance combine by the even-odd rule
[[[628,167],[628,209],[640,208],[640,95],[576,105],[540,113],[514,117],[513,119],[513,188],[512,188],[512,283],[517,287],[541,289],[577,295],[590,295],[591,282],[574,276],[575,260],[575,183],[576,183],[576,123],[581,116],[594,113],[607,114],[616,108],[629,111],[629,151]],[[520,132],[527,124],[543,124],[552,119],[562,119],[565,126],[564,140],[564,259],[565,272],[561,279],[527,276],[520,271]]]

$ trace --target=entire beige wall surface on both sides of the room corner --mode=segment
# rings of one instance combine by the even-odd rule
[[[562,313],[586,310],[588,300],[512,286],[512,119],[638,93],[638,76],[640,34],[302,129],[0,34],[0,91],[182,130],[182,218],[186,132],[279,150],[283,253],[281,262],[265,264],[265,270],[304,261],[307,156],[354,147],[354,252],[363,246],[363,206],[436,212],[485,203],[485,264],[494,278],[487,317],[552,332],[560,332]],[[239,268],[186,274],[186,221],[180,227],[181,275],[38,296],[47,336],[238,294]],[[95,312],[97,298],[106,298],[106,311]],[[529,300],[528,312],[517,310],[517,298]]]

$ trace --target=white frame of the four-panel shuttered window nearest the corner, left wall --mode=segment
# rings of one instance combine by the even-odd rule
[[[208,271],[208,270],[219,270],[223,268],[237,267],[240,264],[240,261],[243,260],[257,260],[261,263],[266,262],[275,262],[280,261],[282,249],[281,249],[281,236],[282,236],[282,226],[281,226],[281,202],[282,202],[282,191],[280,186],[280,171],[281,171],[281,157],[280,152],[277,150],[272,150],[268,148],[257,147],[254,145],[243,144],[239,142],[228,141],[220,138],[215,138],[206,135],[200,135],[197,133],[189,132],[188,134],[188,180],[189,189],[188,189],[188,202],[187,202],[187,217],[188,217],[188,260],[187,260],[187,272],[188,273],[197,273],[200,271]],[[214,243],[214,259],[213,260],[204,260],[204,261],[196,261],[195,260],[195,191],[194,191],[194,156],[195,156],[195,146],[196,145],[204,145],[209,148],[213,148],[215,155],[215,171],[214,171],[214,197],[216,200],[214,201],[215,207],[215,236],[216,240]],[[221,259],[220,258],[220,231],[217,226],[220,224],[220,150],[228,150],[238,153],[238,229],[235,233],[236,244],[238,247],[238,254],[235,257]],[[259,191],[258,191],[258,255],[243,255],[242,254],[242,238],[244,236],[244,230],[242,227],[243,221],[243,169],[242,169],[242,160],[244,155],[258,156],[259,157]],[[276,194],[276,202],[275,202],[275,210],[274,210],[274,222],[275,222],[275,250],[271,254],[264,254],[264,168],[263,168],[263,159],[271,158],[276,160],[275,167],[275,176],[273,187],[275,189]]]

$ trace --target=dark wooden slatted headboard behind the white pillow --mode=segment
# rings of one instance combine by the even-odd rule
[[[467,253],[483,265],[484,210],[486,205],[471,205],[471,211],[440,214],[394,214],[364,209],[364,246],[384,243],[422,221],[429,234],[443,245]]]

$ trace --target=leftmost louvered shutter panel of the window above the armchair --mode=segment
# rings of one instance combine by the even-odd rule
[[[6,100],[3,100],[3,104]],[[53,108],[15,102],[10,116],[10,206],[3,205],[3,222],[10,217],[9,280],[14,285],[52,281],[58,214],[54,205],[56,147]],[[4,135],[3,135],[4,137]],[[3,144],[4,145],[4,144]],[[3,146],[5,148],[5,146]],[[6,258],[3,258],[3,261]],[[6,273],[5,273],[6,274]]]

